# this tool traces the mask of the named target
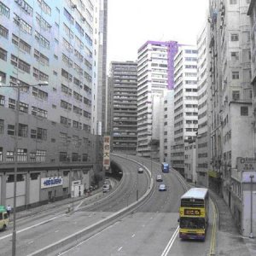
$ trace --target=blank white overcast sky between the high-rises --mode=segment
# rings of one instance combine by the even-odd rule
[[[195,44],[208,0],[108,0],[108,65],[136,61],[148,40]],[[108,70],[109,66],[107,67]]]

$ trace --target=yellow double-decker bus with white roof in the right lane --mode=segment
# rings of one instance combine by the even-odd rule
[[[182,197],[179,208],[179,237],[205,240],[208,225],[208,189],[189,189]]]

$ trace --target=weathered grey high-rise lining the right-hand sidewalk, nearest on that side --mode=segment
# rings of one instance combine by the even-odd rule
[[[251,222],[247,167],[255,165],[248,3],[212,0],[209,15],[212,171],[243,236]]]

